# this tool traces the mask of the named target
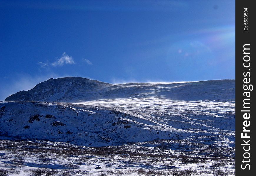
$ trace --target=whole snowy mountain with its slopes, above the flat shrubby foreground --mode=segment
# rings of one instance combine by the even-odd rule
[[[0,101],[0,122],[1,139],[107,146],[207,136],[205,143],[234,146],[235,80],[112,85],[49,79]]]

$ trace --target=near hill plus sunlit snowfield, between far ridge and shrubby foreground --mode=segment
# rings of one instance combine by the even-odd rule
[[[235,103],[130,99],[118,104],[117,101],[114,99],[112,105],[99,101],[86,105],[1,101],[0,138],[108,146],[189,136],[222,136],[225,145],[234,143]]]

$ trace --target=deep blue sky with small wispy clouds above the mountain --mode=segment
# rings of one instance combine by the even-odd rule
[[[0,100],[49,78],[235,79],[235,1],[0,1]]]

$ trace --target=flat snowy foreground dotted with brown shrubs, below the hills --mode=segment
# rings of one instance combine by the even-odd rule
[[[9,175],[235,175],[232,150],[207,137],[88,148],[47,141],[0,141]],[[224,151],[226,150],[226,151]],[[228,156],[227,156],[228,155]]]

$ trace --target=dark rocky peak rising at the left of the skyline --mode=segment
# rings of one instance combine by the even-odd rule
[[[7,97],[6,101],[39,100],[67,102],[79,95],[87,96],[95,91],[100,91],[107,86],[105,82],[80,77],[65,77],[48,79],[28,91],[20,91]]]

